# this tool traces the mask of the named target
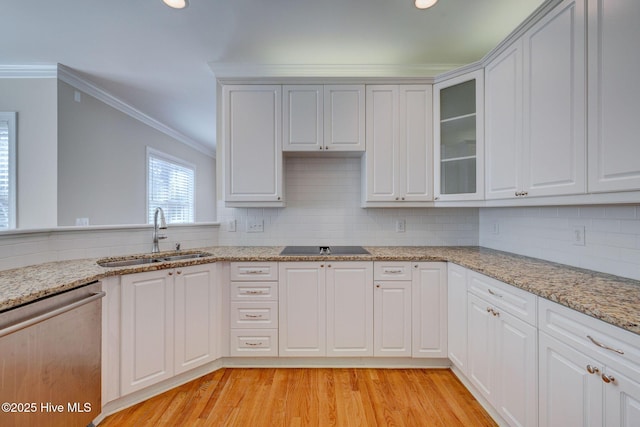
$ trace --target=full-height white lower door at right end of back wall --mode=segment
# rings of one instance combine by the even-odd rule
[[[413,357],[447,357],[447,265],[415,263],[411,299]]]

